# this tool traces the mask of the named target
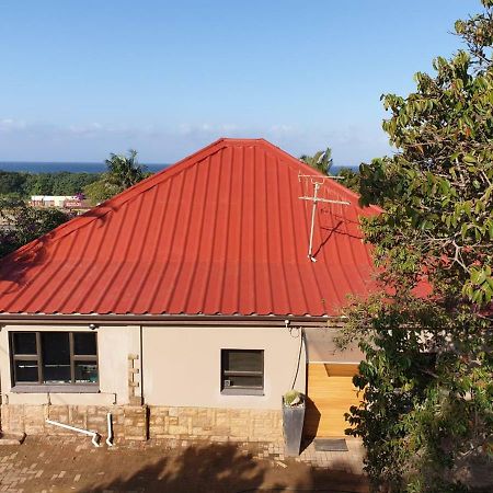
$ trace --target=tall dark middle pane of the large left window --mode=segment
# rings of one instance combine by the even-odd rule
[[[69,333],[42,332],[42,348],[45,383],[70,382]]]

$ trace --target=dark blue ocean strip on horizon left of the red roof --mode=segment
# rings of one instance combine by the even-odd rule
[[[160,171],[169,164],[146,164],[151,173]],[[0,161],[0,170],[19,171],[25,173],[57,173],[70,171],[72,173],[102,173],[106,171],[104,162],[30,162],[30,161]]]

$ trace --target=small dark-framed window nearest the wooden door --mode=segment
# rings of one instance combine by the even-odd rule
[[[221,392],[263,394],[264,352],[260,349],[221,351]]]

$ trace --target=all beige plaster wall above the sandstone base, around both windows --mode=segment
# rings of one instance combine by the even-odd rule
[[[0,379],[7,404],[127,404],[128,356],[137,355],[136,394],[150,405],[277,410],[295,377],[300,333],[285,328],[186,328],[100,325],[99,393],[18,393],[11,391],[10,331],[87,331],[81,324],[4,325],[0,331]],[[142,351],[140,351],[140,345]],[[264,395],[220,392],[220,349],[264,349]],[[296,388],[306,390],[306,352],[301,351]],[[142,377],[142,379],[140,378]]]

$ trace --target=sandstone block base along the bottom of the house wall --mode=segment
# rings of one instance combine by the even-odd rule
[[[282,413],[272,410],[165,408],[147,405],[2,404],[4,432],[26,435],[73,435],[46,420],[98,432],[106,437],[112,414],[115,440],[203,438],[215,442],[280,442]]]

